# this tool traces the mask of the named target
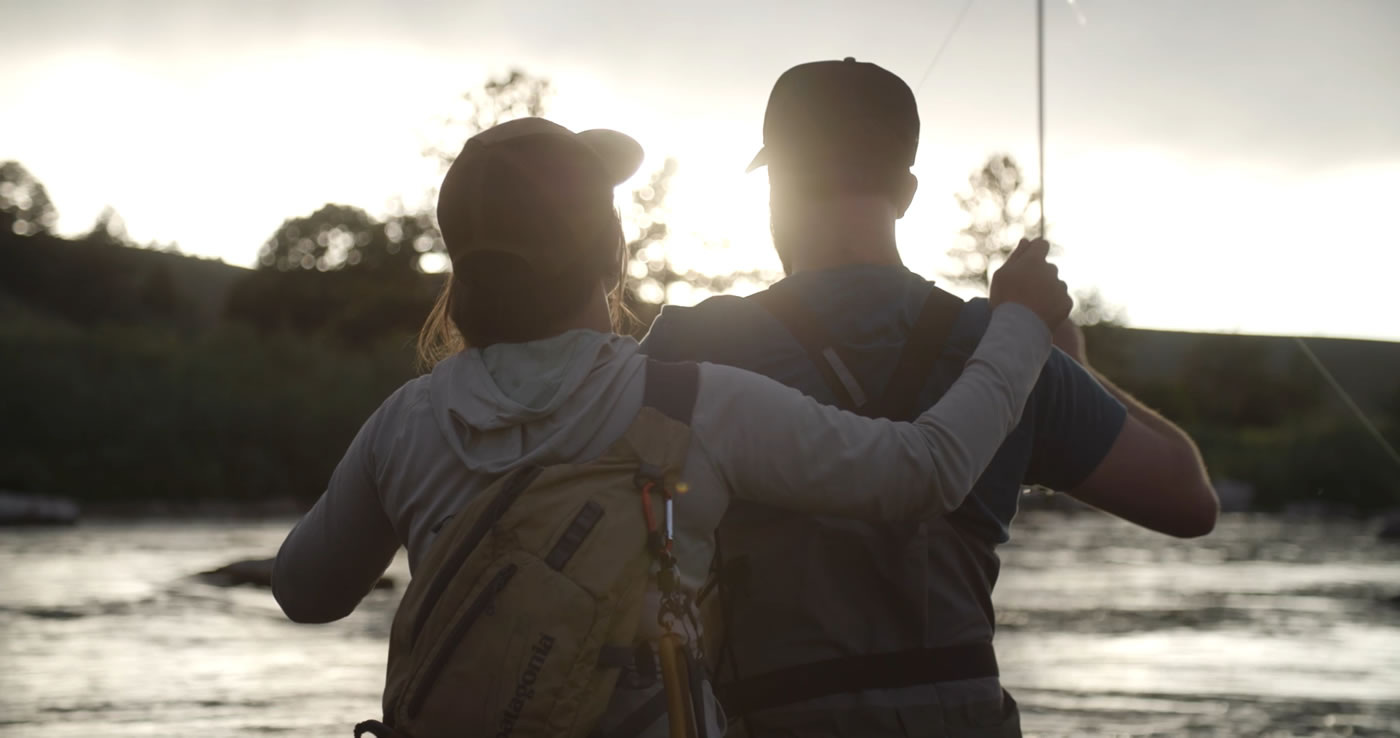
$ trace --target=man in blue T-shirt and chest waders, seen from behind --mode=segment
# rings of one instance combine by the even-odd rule
[[[965,302],[900,260],[895,224],[917,188],[918,127],[910,88],[875,64],[815,62],[778,77],[750,171],[767,167],[787,277],[748,298],[668,305],[643,351],[752,370],[872,417],[909,419],[944,396],[986,340],[988,302]],[[991,646],[991,590],[1023,485],[1169,535],[1214,527],[1218,503],[1191,440],[1088,370],[1078,329],[1057,336],[1072,358],[1051,354],[1016,430],[952,515],[728,508],[707,648],[748,735],[1019,735]],[[881,465],[868,469],[860,486],[878,493]]]

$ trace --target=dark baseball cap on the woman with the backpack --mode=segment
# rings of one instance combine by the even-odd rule
[[[542,273],[589,256],[616,218],[613,188],[641,167],[641,146],[616,130],[574,133],[519,118],[468,139],[438,190],[438,228],[454,267],[510,253]]]

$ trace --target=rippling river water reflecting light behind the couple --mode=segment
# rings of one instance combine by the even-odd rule
[[[400,587],[297,626],[192,574],[267,557],[276,521],[0,532],[0,735],[350,735],[377,717]],[[1226,517],[1170,541],[1028,513],[997,636],[1028,735],[1400,735],[1400,545]]]

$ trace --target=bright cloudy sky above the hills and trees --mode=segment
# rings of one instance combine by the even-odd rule
[[[776,267],[766,182],[743,174],[773,80],[855,56],[917,85],[963,4],[0,0],[0,160],[48,186],[63,232],[111,204],[139,241],[251,265],[286,217],[420,199],[458,95],[519,66],[554,81],[556,120],[679,158],[676,258]],[[1144,328],[1400,339],[1400,1],[1077,7],[1047,0],[1046,207],[1071,287]],[[917,88],[917,272],[949,266],[952,193],[987,154],[1035,176],[1033,24],[1032,0],[974,0]]]

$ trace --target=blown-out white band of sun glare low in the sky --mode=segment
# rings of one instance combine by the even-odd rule
[[[45,111],[10,116],[4,139],[32,141],[13,155],[48,186],[59,232],[84,232],[112,206],[139,242],[178,241],[189,253],[251,266],[284,218],[323,203],[377,217],[395,199],[410,210],[428,204],[424,195],[440,172],[421,151],[442,133],[454,101],[490,71],[395,48],[265,49],[237,63],[175,70],[66,52],[0,84],[28,109]],[[557,91],[550,118],[575,130],[619,129],[645,148],[641,169],[617,188],[629,235],[638,228],[633,190],[668,157],[678,161],[658,214],[668,238],[645,259],[701,277],[759,274],[722,284],[741,294],[780,276],[766,172],[743,172],[762,140],[759,102],[694,105],[587,67],[543,73]],[[94,125],[92,111],[119,113]],[[904,263],[935,280],[965,223],[952,195],[988,153],[981,141],[948,140],[923,141],[920,190],[899,223]],[[1134,325],[1336,335],[1345,315],[1348,333],[1393,333],[1393,311],[1375,307],[1375,295],[1389,293],[1397,256],[1393,238],[1378,237],[1372,221],[1392,210],[1394,165],[1298,174],[1106,150],[1092,140],[1057,146],[1064,148],[1051,146],[1046,185],[1061,273],[1071,287],[1098,287],[1124,305]],[[1336,258],[1338,267],[1303,266]],[[426,255],[423,267],[447,263]],[[645,274],[638,267],[634,277]],[[1288,297],[1298,290],[1341,295],[1352,307],[1317,309]],[[710,294],[673,284],[645,297],[690,304]]]

